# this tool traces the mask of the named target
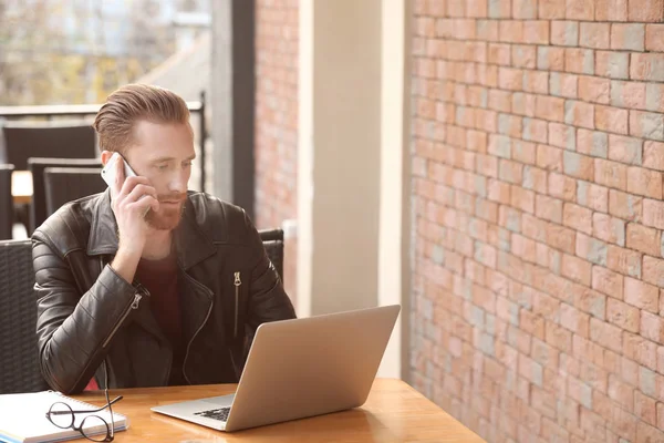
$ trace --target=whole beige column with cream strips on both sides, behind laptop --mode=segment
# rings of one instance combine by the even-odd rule
[[[301,0],[299,34],[298,315],[401,303],[378,371],[396,378],[407,368],[407,3]]]

